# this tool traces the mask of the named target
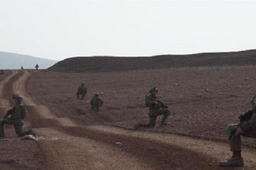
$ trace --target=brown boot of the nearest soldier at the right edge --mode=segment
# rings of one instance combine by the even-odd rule
[[[241,151],[233,152],[233,156],[230,159],[219,162],[219,166],[237,166],[244,165],[243,157],[241,157]]]

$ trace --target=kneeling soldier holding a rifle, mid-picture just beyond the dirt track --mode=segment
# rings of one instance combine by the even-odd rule
[[[149,92],[150,95],[146,96],[145,98],[145,105],[150,109],[150,122],[148,124],[137,124],[135,125],[134,129],[138,129],[140,127],[154,127],[159,115],[163,115],[161,119],[161,126],[163,126],[165,125],[166,118],[171,114],[171,112],[167,109],[167,106],[164,105],[164,103],[161,102],[159,98],[157,98],[157,88],[153,87]]]

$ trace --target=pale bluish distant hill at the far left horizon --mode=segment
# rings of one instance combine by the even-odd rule
[[[39,69],[46,69],[56,62],[56,60],[0,51],[0,69],[20,69],[21,66],[23,66],[24,69],[33,69],[36,64],[39,65]]]

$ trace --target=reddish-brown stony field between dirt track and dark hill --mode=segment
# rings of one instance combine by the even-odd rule
[[[175,110],[169,125],[150,131],[226,140],[226,124],[250,109],[255,95],[256,67],[198,67],[107,73],[38,72],[28,81],[32,96],[61,116],[73,117],[83,124],[112,124],[133,128],[147,123],[145,95],[157,86],[159,96]],[[84,101],[75,99],[80,82],[88,93]],[[90,112],[87,103],[96,92],[103,92],[99,113]],[[246,145],[254,145],[246,140]]]

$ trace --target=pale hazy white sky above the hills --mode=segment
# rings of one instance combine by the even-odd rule
[[[63,60],[256,49],[256,1],[0,0],[0,51]]]

